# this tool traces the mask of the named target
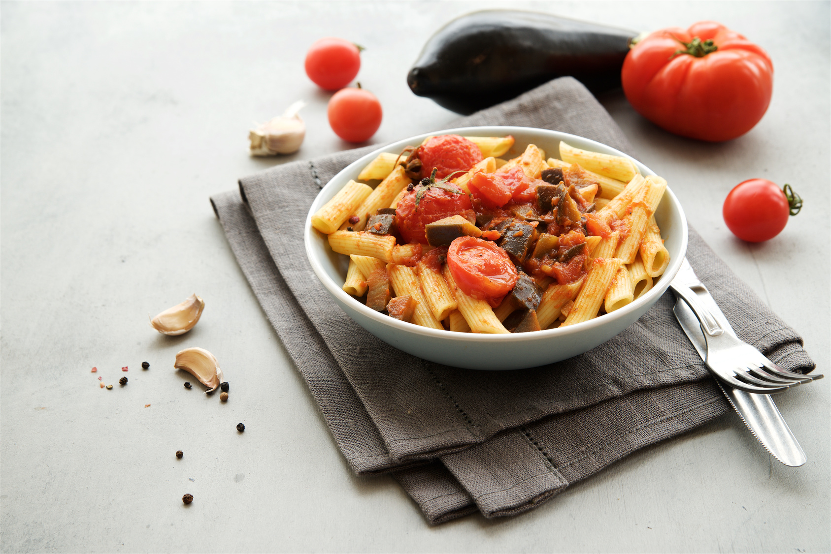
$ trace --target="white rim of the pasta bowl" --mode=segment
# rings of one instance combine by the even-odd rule
[[[484,133],[482,135],[475,135],[475,130],[482,130]],[[611,314],[604,314],[599,317],[595,317],[588,321],[583,321],[581,323],[577,323],[568,327],[560,328],[557,327],[555,329],[543,329],[542,331],[533,331],[530,333],[508,333],[508,334],[490,334],[490,333],[460,333],[455,331],[447,331],[447,330],[438,330],[438,329],[431,329],[429,327],[424,327],[420,325],[416,325],[415,323],[408,323],[406,321],[400,321],[395,319],[394,317],[385,316],[380,311],[375,311],[365,304],[358,302],[355,297],[348,294],[342,289],[341,285],[338,285],[334,282],[327,274],[327,272],[323,269],[322,263],[317,259],[317,256],[314,255],[312,252],[312,233],[320,233],[317,229],[312,227],[312,215],[317,212],[317,209],[320,208],[322,205],[322,201],[320,201],[322,194],[327,189],[333,189],[337,186],[337,180],[343,179],[343,183],[338,187],[338,189],[342,188],[344,185],[347,184],[348,179],[352,179],[351,177],[345,178],[342,177],[345,174],[352,174],[355,169],[363,169],[363,167],[368,164],[372,159],[375,159],[378,154],[382,152],[391,152],[393,154],[398,154],[401,152],[407,145],[418,145],[428,136],[436,136],[436,135],[469,135],[469,136],[497,136],[497,135],[514,135],[516,134],[524,134],[528,133],[529,131],[534,131],[535,133],[543,133],[543,135],[548,134],[551,135],[552,139],[564,140],[568,142],[568,138],[573,138],[578,140],[578,142],[588,143],[593,147],[597,147],[598,150],[593,150],[595,152],[599,152],[602,154],[614,154],[623,156],[628,159],[632,159],[632,162],[637,164],[638,168],[641,169],[642,174],[651,175],[656,174],[652,169],[649,169],[645,164],[642,164],[637,159],[632,158],[632,156],[621,152],[615,148],[612,148],[609,145],[604,145],[601,142],[597,142],[597,140],[587,139],[586,137],[579,136],[579,135],[572,135],[570,133],[563,133],[562,131],[555,131],[555,130],[548,130],[548,129],[539,129],[537,127],[522,127],[517,125],[476,125],[473,127],[455,127],[452,129],[445,129],[445,130],[437,130],[431,131],[429,133],[422,133],[420,135],[414,135],[409,138],[398,140],[394,143],[389,145],[384,145],[379,147],[376,150],[371,151],[369,154],[361,156],[361,158],[356,159],[352,164],[347,165],[344,169],[341,169],[337,174],[335,174],[332,179],[329,179],[329,182],[323,186],[320,193],[317,194],[314,201],[312,202],[312,206],[309,208],[309,212],[306,216],[306,223],[304,224],[303,228],[303,243],[306,248],[306,257],[308,258],[309,263],[312,265],[312,271],[314,271],[317,279],[322,283],[323,287],[327,289],[327,291],[332,294],[338,301],[342,302],[346,306],[352,307],[352,309],[356,310],[361,316],[366,316],[369,319],[380,323],[381,325],[391,326],[394,329],[405,331],[407,333],[411,333],[417,336],[425,336],[430,337],[431,339],[445,339],[445,340],[464,340],[464,341],[486,341],[492,343],[494,341],[500,343],[515,343],[515,342],[525,342],[530,340],[545,340],[547,338],[554,339],[558,337],[567,337],[572,336],[574,334],[583,334],[587,332],[591,332],[597,327],[605,326],[607,324],[612,324],[613,321],[617,321],[620,319],[625,319],[629,316],[632,311],[637,311],[643,305],[652,305],[657,302],[658,298],[666,292],[666,289],[669,287],[671,280],[675,277],[678,270],[681,268],[681,262],[683,262],[684,257],[686,257],[686,248],[687,248],[687,241],[688,241],[688,228],[686,222],[686,214],[684,213],[684,209],[681,207],[681,203],[679,202],[678,198],[675,194],[672,193],[669,186],[666,187],[665,198],[671,199],[671,202],[676,205],[678,209],[678,213],[681,216],[681,248],[680,252],[681,255],[677,257],[673,257],[670,260],[669,266],[666,267],[666,271],[661,275],[661,279],[658,282],[656,287],[652,287],[647,294],[643,295],[642,297],[638,298],[634,302],[630,302],[627,306],[624,306],[620,309],[612,311]],[[529,143],[531,144],[531,143]],[[323,233],[320,233],[323,234]]]

